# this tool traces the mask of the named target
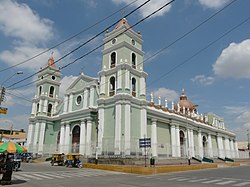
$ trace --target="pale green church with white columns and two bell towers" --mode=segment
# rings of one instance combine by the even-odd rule
[[[81,74],[58,98],[60,69],[50,58],[38,74],[27,146],[38,154],[79,152],[86,157],[238,157],[235,134],[214,114],[198,114],[183,90],[177,103],[146,100],[142,36],[126,19],[104,38],[98,78]]]

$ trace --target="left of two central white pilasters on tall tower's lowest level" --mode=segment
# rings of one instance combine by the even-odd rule
[[[115,154],[121,151],[121,104],[115,105]]]

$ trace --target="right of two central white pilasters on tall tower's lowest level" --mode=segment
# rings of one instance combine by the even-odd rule
[[[131,139],[131,134],[130,134],[130,129],[131,129],[131,115],[130,115],[130,104],[126,104],[125,105],[125,132],[124,132],[124,136],[125,136],[125,155],[130,155],[130,149],[131,149],[131,145],[130,145],[130,139]]]

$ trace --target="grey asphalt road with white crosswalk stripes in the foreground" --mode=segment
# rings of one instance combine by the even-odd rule
[[[158,175],[22,163],[13,172],[12,187],[250,187],[250,166],[186,171]]]

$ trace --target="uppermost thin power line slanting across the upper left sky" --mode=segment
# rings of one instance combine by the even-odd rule
[[[59,42],[58,44],[56,44],[56,45],[50,47],[49,49],[47,49],[47,50],[45,50],[45,51],[43,51],[43,52],[41,52],[41,53],[38,53],[38,54],[36,54],[36,55],[34,55],[34,56],[32,56],[32,57],[26,59],[26,60],[23,60],[23,61],[21,61],[21,62],[15,64],[15,65],[9,66],[9,67],[4,68],[4,69],[1,69],[1,70],[0,70],[0,73],[3,72],[3,71],[9,70],[9,69],[11,69],[11,68],[17,67],[17,66],[19,66],[19,65],[21,65],[21,64],[24,64],[24,63],[26,63],[26,62],[29,62],[30,60],[33,60],[33,59],[35,59],[35,58],[37,58],[37,57],[43,55],[44,53],[46,53],[46,52],[48,52],[48,51],[50,51],[50,50],[52,50],[52,49],[54,49],[54,48],[56,48],[56,47],[58,47],[58,46],[60,46],[60,45],[62,45],[62,44],[64,44],[64,43],[70,41],[71,39],[73,39],[73,38],[79,36],[80,34],[82,34],[82,33],[86,32],[86,31],[92,29],[93,27],[95,27],[96,25],[102,23],[103,21],[105,21],[105,20],[111,18],[112,16],[114,16],[114,15],[117,14],[118,12],[121,12],[122,10],[126,9],[126,8],[129,7],[130,5],[134,4],[136,1],[138,1],[138,0],[132,1],[131,3],[127,4],[126,6],[120,8],[119,10],[113,12],[112,14],[106,16],[105,18],[103,18],[103,19],[97,21],[97,22],[94,23],[93,25],[91,25],[91,26],[89,26],[89,27],[87,27],[87,28],[81,30],[80,32],[78,32],[78,33],[76,33],[76,34],[70,36],[69,38],[63,40],[62,42]]]

